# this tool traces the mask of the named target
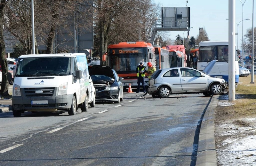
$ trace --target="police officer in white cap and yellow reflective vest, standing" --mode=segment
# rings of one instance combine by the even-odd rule
[[[140,93],[140,82],[142,84],[142,89],[143,89],[143,93],[146,93],[145,90],[145,66],[143,62],[140,62],[140,65],[136,67],[136,73],[137,73],[137,92],[136,93]]]

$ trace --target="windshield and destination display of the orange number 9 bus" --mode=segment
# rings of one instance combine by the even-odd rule
[[[135,73],[136,67],[140,62],[144,62],[147,67],[148,63],[148,48],[118,48],[108,49],[110,58],[110,67],[117,74]]]

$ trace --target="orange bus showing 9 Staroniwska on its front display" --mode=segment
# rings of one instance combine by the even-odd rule
[[[156,67],[155,48],[152,44],[135,41],[108,45],[108,64],[119,77],[124,78],[124,90],[128,90],[130,84],[132,89],[137,89],[136,67],[141,61],[144,62],[146,70],[148,62]],[[145,76],[145,84],[148,85],[148,73]]]

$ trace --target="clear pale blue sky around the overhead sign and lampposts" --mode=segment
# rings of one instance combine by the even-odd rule
[[[186,7],[187,0],[153,0],[156,4],[163,4],[163,7]],[[188,7],[190,7],[190,36],[196,36],[199,34],[199,28],[204,27],[210,40],[228,40],[228,1],[229,0],[188,0]],[[244,7],[242,3],[244,3]],[[252,28],[252,0],[235,0],[236,15],[235,20],[238,24],[243,20],[242,11],[244,8],[244,20],[240,22],[238,26],[238,45],[239,49],[242,44],[242,25],[243,34],[246,34],[248,28]],[[162,7],[162,5],[161,5]],[[256,1],[254,2],[254,27],[256,27]],[[237,33],[237,24],[236,33]],[[180,34],[183,37],[184,31],[170,31],[170,38],[175,40],[175,36]],[[187,32],[184,33],[184,38],[187,36]],[[256,42],[256,41],[254,41]],[[237,44],[237,35],[236,42]]]

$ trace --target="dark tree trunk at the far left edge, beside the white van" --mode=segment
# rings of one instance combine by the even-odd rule
[[[2,84],[1,84],[1,89],[0,89],[0,95],[1,96],[9,96],[8,93],[8,81],[7,81],[7,72],[8,72],[8,67],[7,67],[7,60],[5,59],[5,43],[4,43],[4,32],[3,28],[5,28],[4,22],[5,22],[5,14],[4,11],[8,8],[9,6],[9,0],[0,0],[0,65],[2,68]]]

